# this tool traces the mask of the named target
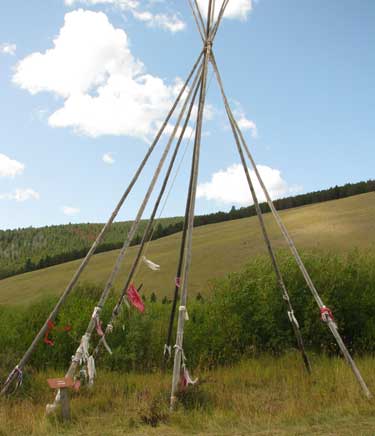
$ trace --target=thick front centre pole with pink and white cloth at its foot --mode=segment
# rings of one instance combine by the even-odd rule
[[[181,290],[180,307],[178,311],[178,323],[177,323],[176,345],[175,345],[175,352],[174,352],[173,377],[172,377],[172,388],[171,388],[170,407],[172,410],[174,409],[176,403],[176,393],[178,390],[178,383],[181,374],[181,360],[183,358],[182,347],[183,347],[184,325],[185,325],[185,317],[186,317],[189,273],[190,273],[191,258],[192,258],[192,237],[193,237],[193,227],[194,227],[195,199],[196,199],[198,171],[199,171],[200,143],[202,138],[203,113],[204,113],[204,106],[206,101],[208,63],[209,63],[210,53],[212,48],[212,42],[209,40],[211,6],[212,6],[212,0],[209,1],[209,5],[208,5],[206,44],[204,48],[202,82],[201,82],[196,132],[195,132],[195,142],[194,142],[192,183],[191,183],[191,192],[189,193],[191,200],[189,205],[189,215],[188,215],[189,218],[188,218],[188,227],[187,227],[187,235],[186,235],[183,276],[182,276],[182,290]]]

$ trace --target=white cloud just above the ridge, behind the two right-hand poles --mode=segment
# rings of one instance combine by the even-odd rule
[[[279,170],[266,165],[258,165],[257,168],[272,199],[292,195],[300,191],[300,187],[289,186],[282,178]],[[250,169],[249,171],[259,201],[265,201],[254,171]],[[253,204],[245,172],[240,164],[234,164],[225,170],[220,170],[212,175],[209,182],[199,184],[197,196],[198,198],[215,200],[220,203]]]

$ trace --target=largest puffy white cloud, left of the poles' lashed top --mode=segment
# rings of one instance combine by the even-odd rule
[[[32,53],[16,67],[13,81],[31,94],[64,98],[49,117],[53,127],[99,135],[154,135],[181,87],[145,73],[126,33],[102,12],[76,10],[45,53]]]

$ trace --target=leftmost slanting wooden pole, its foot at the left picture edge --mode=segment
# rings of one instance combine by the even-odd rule
[[[186,79],[183,87],[181,88],[172,108],[170,109],[165,121],[163,122],[162,126],[159,129],[159,132],[156,135],[155,140],[153,141],[153,143],[151,144],[151,146],[149,147],[143,161],[141,162],[140,166],[138,167],[136,173],[134,174],[128,188],[126,189],[126,191],[124,192],[123,196],[121,197],[119,203],[117,204],[117,206],[115,207],[114,211],[112,212],[109,220],[107,221],[107,223],[104,225],[104,227],[102,228],[101,232],[99,233],[99,235],[97,236],[95,242],[93,243],[92,247],[90,248],[90,250],[88,251],[86,257],[84,258],[84,260],[82,261],[82,263],[80,264],[80,266],[78,267],[77,271],[74,273],[74,276],[72,277],[71,281],[69,282],[68,286],[66,287],[66,289],[64,290],[63,294],[61,295],[59,301],[57,302],[56,306],[54,307],[54,309],[52,310],[52,312],[50,313],[49,317],[47,318],[46,322],[44,323],[44,325],[42,326],[42,328],[39,330],[39,332],[37,333],[37,335],[35,336],[33,342],[30,344],[29,348],[27,349],[27,351],[25,352],[25,354],[23,355],[23,357],[21,358],[21,360],[18,362],[18,364],[16,365],[16,367],[13,369],[13,371],[9,374],[7,381],[4,383],[3,388],[0,392],[0,395],[4,395],[8,392],[9,387],[11,386],[11,384],[13,383],[13,381],[16,379],[17,373],[18,371],[22,371],[23,368],[25,367],[25,365],[27,364],[27,362],[29,361],[29,359],[31,358],[34,350],[36,349],[38,343],[43,339],[45,332],[48,329],[48,323],[49,321],[54,321],[58,315],[58,313],[60,312],[61,307],[64,305],[65,301],[67,300],[68,296],[70,295],[71,291],[73,290],[74,286],[77,284],[79,277],[81,276],[82,272],[84,271],[84,269],[86,268],[86,266],[88,265],[91,257],[93,256],[93,254],[95,253],[98,245],[100,244],[100,242],[103,240],[104,235],[106,234],[108,228],[111,226],[111,224],[113,223],[114,219],[116,218],[118,212],[120,211],[122,205],[124,204],[126,198],[128,197],[129,193],[131,192],[133,186],[135,185],[136,181],[139,178],[139,175],[141,174],[143,168],[145,167],[150,155],[152,154],[152,152],[154,151],[161,135],[163,134],[165,127],[168,124],[168,121],[170,120],[170,118],[173,115],[173,112],[175,111],[177,105],[179,104],[182,95],[185,92],[185,89],[188,85],[188,83],[190,82],[194,72],[196,71],[198,64],[201,61],[201,58],[203,56],[203,52],[200,53],[197,61],[195,62],[193,68],[191,69],[188,78]]]

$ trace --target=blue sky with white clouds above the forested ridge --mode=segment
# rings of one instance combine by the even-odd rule
[[[273,197],[374,177],[374,23],[372,0],[231,0],[216,58]],[[200,48],[187,1],[3,2],[0,228],[106,220]],[[208,103],[197,213],[250,202],[214,79]]]

